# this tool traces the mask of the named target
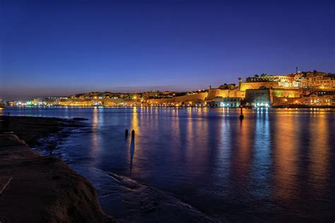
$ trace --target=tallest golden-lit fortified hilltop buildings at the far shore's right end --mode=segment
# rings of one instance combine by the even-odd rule
[[[335,74],[323,72],[297,72],[286,76],[249,77],[241,83],[245,91],[244,102],[249,106],[302,105],[335,106]]]

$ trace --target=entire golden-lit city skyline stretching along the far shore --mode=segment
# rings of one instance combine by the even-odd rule
[[[13,106],[166,106],[166,107],[281,107],[335,106],[335,74],[317,71],[297,72],[283,76],[266,73],[242,80],[238,85],[193,92],[112,93],[88,92],[70,97],[48,97],[8,102]]]

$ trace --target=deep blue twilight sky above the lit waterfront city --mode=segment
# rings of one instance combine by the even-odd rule
[[[329,1],[0,0],[0,97],[196,90],[335,73]]]

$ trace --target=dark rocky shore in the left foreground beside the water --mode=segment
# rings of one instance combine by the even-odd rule
[[[14,134],[0,134],[0,222],[114,222],[88,180],[30,149],[76,121],[11,116],[10,123]]]

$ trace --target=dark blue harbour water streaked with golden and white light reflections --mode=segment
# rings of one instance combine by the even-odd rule
[[[89,179],[120,222],[335,221],[334,109],[249,109],[242,122],[237,109],[6,111],[88,118],[40,150]]]

